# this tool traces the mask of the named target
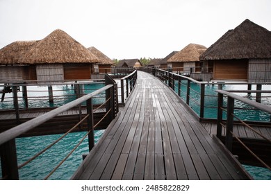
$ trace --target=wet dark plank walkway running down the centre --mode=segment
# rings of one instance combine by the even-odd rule
[[[72,179],[249,179],[161,81],[138,71],[120,116]]]

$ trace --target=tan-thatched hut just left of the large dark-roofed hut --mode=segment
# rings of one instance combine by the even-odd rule
[[[178,53],[167,60],[173,72],[195,73],[202,70],[199,56],[206,51],[206,47],[199,44],[188,44]]]

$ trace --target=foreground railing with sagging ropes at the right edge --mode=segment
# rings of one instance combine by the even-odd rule
[[[255,114],[258,111],[258,114],[261,115],[269,115],[271,114],[271,107],[268,105],[263,105],[261,103],[257,103],[255,101],[249,100],[247,98],[243,98],[242,96],[238,96],[237,94],[233,94],[233,92],[243,92],[243,91],[223,91],[223,90],[217,90],[218,92],[218,107],[217,107],[217,137],[219,139],[221,139],[222,137],[222,127],[224,127],[226,129],[226,139],[225,139],[225,145],[227,147],[228,150],[232,151],[233,149],[233,137],[236,138],[238,140],[238,142],[240,144],[242,144],[246,150],[248,150],[248,152],[250,152],[250,154],[252,154],[263,166],[265,166],[266,168],[270,169],[270,166],[268,166],[268,164],[265,164],[265,162],[260,159],[258,156],[256,156],[254,154],[254,152],[247,147],[247,145],[245,145],[245,143],[243,143],[243,141],[241,141],[238,138],[238,135],[233,133],[233,121],[237,120],[239,121],[242,125],[246,126],[247,130],[252,130],[253,132],[255,132],[256,134],[258,134],[259,136],[261,136],[264,141],[266,141],[268,144],[265,145],[265,152],[266,155],[270,155],[270,150],[267,148],[267,146],[271,145],[271,139],[268,139],[268,137],[263,136],[263,134],[257,132],[256,130],[254,130],[254,128],[250,125],[248,125],[247,123],[245,123],[244,121],[242,121],[242,119],[238,118],[238,116],[236,116],[236,114],[234,114],[234,110],[235,110],[235,102],[242,102],[245,103],[246,105],[249,105],[252,109],[254,109]],[[271,93],[271,91],[249,91],[249,92],[254,92],[254,93],[262,93],[262,92],[268,92]],[[227,97],[227,105],[224,105],[224,97]],[[225,108],[227,107],[227,108]],[[227,118],[226,121],[223,121],[222,119],[222,114],[223,112],[227,112]],[[271,121],[269,122],[269,125],[271,125]]]

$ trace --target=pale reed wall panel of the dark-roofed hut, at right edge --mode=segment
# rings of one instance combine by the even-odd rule
[[[271,59],[249,60],[248,81],[271,82]]]

